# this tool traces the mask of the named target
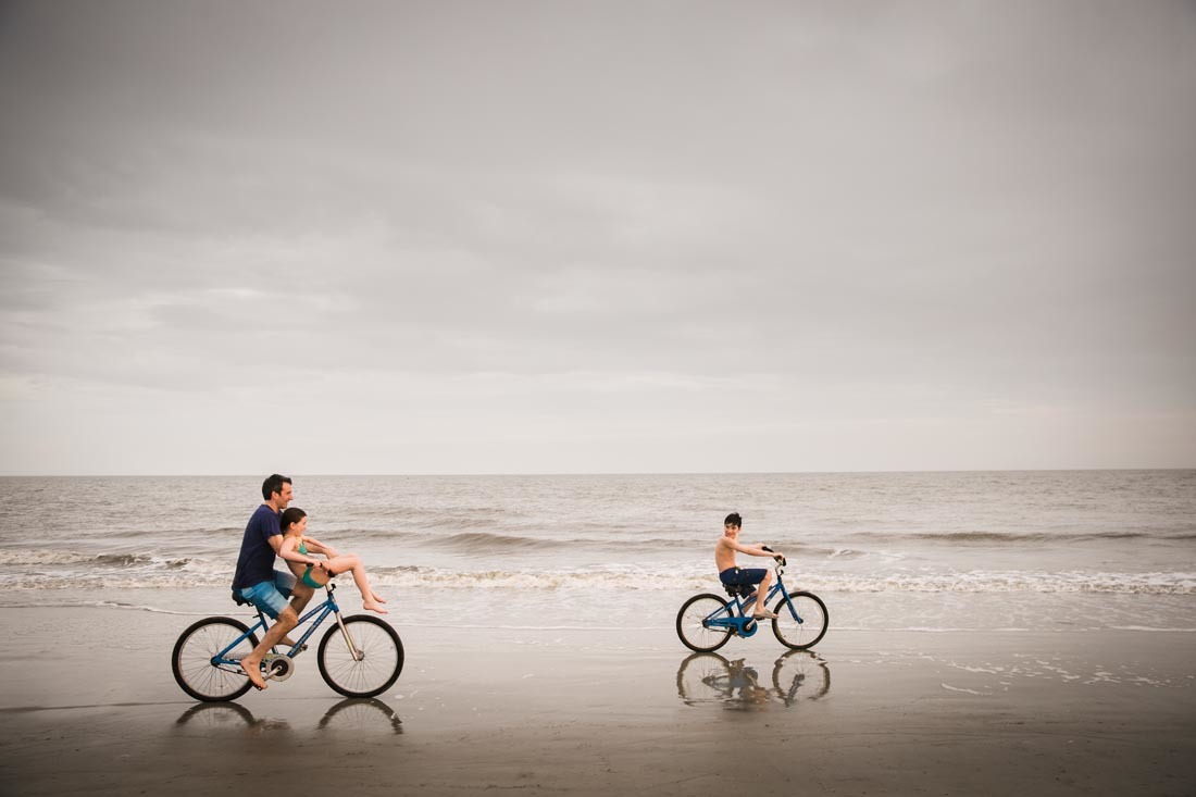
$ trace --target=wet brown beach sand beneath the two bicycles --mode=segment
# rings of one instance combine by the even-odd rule
[[[315,651],[196,704],[191,616],[0,609],[0,793],[1191,795],[1196,634],[768,633],[692,656],[671,628],[396,627],[407,665],[344,700]],[[111,640],[102,646],[102,634]]]

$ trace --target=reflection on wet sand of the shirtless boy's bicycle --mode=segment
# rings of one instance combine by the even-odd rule
[[[689,706],[762,708],[818,700],[830,690],[830,668],[817,653],[794,650],[773,663],[771,683],[761,683],[755,667],[718,653],[694,653],[677,668],[677,694]]]

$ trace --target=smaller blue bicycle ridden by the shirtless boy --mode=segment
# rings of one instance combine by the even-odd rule
[[[767,550],[767,548],[765,548]],[[813,592],[789,592],[785,589],[785,556],[776,558],[776,583],[764,596],[763,606],[768,606],[777,595],[781,600],[773,607],[777,615],[773,620],[773,633],[786,647],[808,650],[818,644],[826,633],[830,616],[826,604]],[[731,600],[718,595],[695,595],[685,601],[677,613],[677,635],[685,647],[700,653],[719,650],[731,637],[751,637],[759,629],[759,623],[744,612],[743,598],[755,590],[750,585],[727,586]]]

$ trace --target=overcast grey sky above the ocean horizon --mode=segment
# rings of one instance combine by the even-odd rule
[[[0,474],[1118,467],[1191,2],[0,2]]]

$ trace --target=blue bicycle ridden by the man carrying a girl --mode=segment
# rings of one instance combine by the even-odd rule
[[[286,645],[279,645],[262,657],[262,677],[267,681],[286,681],[291,677],[295,669],[295,657],[307,650],[307,639],[324,620],[332,616],[336,622],[319,640],[316,653],[321,676],[328,686],[347,698],[382,694],[403,671],[403,641],[393,628],[378,617],[365,614],[342,617],[332,596],[335,589],[335,584],[327,584],[324,591],[328,598],[299,619],[299,626],[294,631],[312,617],[316,620],[291,650],[280,652],[280,647]],[[250,606],[236,592],[233,601],[240,606]],[[240,669],[240,659],[257,647],[257,632],[264,633],[268,627],[261,609],[257,609],[257,622],[252,627],[233,617],[200,620],[175,643],[175,652],[170,657],[175,681],[196,700],[236,700],[252,686],[249,676]]]

